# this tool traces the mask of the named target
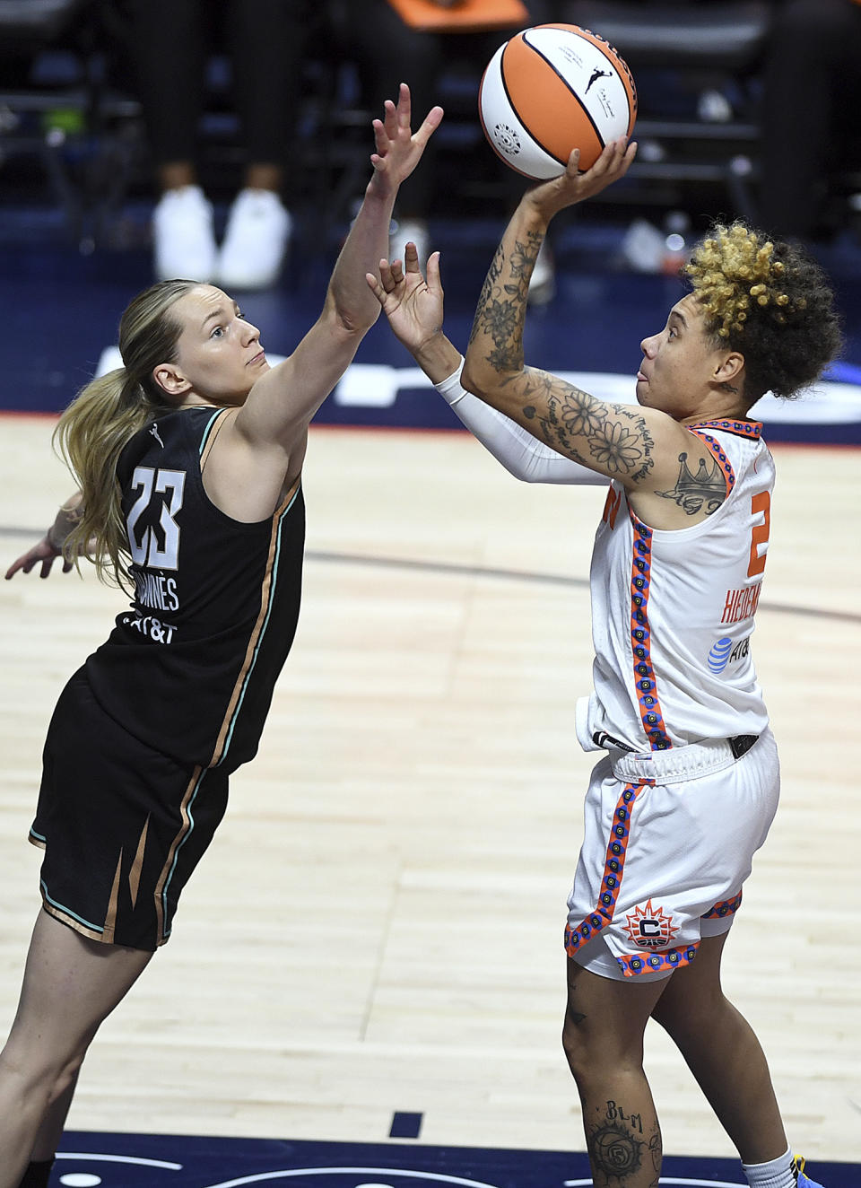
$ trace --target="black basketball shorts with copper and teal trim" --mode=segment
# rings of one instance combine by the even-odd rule
[[[133,738],[83,670],[61,694],[30,841],[45,911],[106,944],[154,950],[227,808],[227,772],[181,764]]]

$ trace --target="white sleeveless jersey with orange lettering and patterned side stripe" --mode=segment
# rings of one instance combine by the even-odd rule
[[[664,751],[766,728],[751,653],[774,484],[760,430],[747,421],[690,426],[727,488],[690,527],[648,527],[612,482],[591,562],[594,693],[577,706],[587,751]],[[684,456],[679,465],[686,470]],[[691,498],[714,498],[704,466],[683,476]]]

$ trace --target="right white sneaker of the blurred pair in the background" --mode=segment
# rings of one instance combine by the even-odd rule
[[[293,220],[272,190],[240,190],[219,257],[223,289],[268,289],[287,251]]]

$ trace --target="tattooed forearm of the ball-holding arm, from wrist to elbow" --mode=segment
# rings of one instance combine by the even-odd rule
[[[506,387],[524,369],[524,323],[546,221],[525,196],[490,263],[469,336],[463,386],[507,412]]]

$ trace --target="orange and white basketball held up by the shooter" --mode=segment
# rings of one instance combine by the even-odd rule
[[[637,87],[623,59],[580,25],[534,25],[496,50],[481,80],[479,113],[490,147],[533,181],[564,173],[572,148],[580,169],[631,135]]]

